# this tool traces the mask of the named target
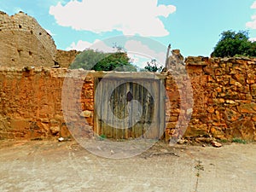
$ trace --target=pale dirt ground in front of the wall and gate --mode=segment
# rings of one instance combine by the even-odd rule
[[[0,191],[253,192],[255,152],[255,143],[159,142],[143,154],[110,159],[75,141],[0,141]]]

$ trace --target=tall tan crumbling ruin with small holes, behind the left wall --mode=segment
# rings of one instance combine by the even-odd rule
[[[31,16],[22,12],[9,16],[0,11],[0,66],[44,66],[55,64],[54,40]]]

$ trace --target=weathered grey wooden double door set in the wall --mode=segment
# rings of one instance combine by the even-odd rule
[[[95,132],[98,136],[159,138],[164,129],[160,80],[96,80]]]

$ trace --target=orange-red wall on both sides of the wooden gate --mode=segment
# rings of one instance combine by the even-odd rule
[[[183,134],[256,140],[256,59],[189,57],[186,68],[193,90],[193,112],[181,107],[179,91],[186,91],[188,79],[178,76],[182,82],[178,87],[166,73],[171,102],[170,108],[166,107],[166,116],[170,116],[166,118],[166,140]],[[85,118],[93,125],[92,77],[84,81],[82,100],[75,102],[84,113],[73,112],[73,122],[65,122],[61,90],[66,73],[67,68],[0,67],[0,138],[67,137],[67,123],[79,127]],[[184,99],[185,106],[189,99]],[[179,114],[181,119],[191,114],[187,130],[177,129]],[[90,132],[85,130],[84,134]]]

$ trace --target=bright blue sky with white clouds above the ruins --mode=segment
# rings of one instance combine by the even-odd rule
[[[247,30],[256,40],[255,0],[0,0],[0,10],[34,17],[57,49],[109,48],[113,45],[105,39],[110,38],[112,44],[129,49],[132,43],[152,57],[154,52],[165,55],[166,50],[154,48],[157,45],[167,49],[172,44],[187,57],[209,56],[227,30]],[[124,35],[138,38],[125,44],[114,38]],[[155,44],[143,44],[147,38]]]

